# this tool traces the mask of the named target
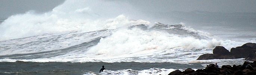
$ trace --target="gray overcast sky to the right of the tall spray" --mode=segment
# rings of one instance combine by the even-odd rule
[[[256,0],[127,0],[144,11],[256,12]]]

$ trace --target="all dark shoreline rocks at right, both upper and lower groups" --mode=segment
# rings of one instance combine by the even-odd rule
[[[203,54],[197,60],[239,58],[246,59],[243,65],[223,65],[219,68],[216,63],[216,65],[209,64],[205,69],[197,69],[196,71],[191,68],[185,71],[177,69],[168,75],[256,75],[256,43],[246,43],[243,46],[232,48],[230,52],[225,47],[217,46],[213,49],[213,54]]]

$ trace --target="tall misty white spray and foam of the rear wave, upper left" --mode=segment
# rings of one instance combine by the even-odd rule
[[[46,13],[28,11],[13,15],[0,25],[0,41],[40,34],[89,32],[123,28],[131,24],[149,24],[144,20],[129,20],[122,15],[127,11],[122,7],[128,7],[129,4],[118,2],[67,0]]]

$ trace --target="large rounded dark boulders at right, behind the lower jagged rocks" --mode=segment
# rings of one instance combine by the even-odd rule
[[[231,48],[230,52],[225,47],[217,46],[213,49],[213,54],[203,54],[197,60],[208,59],[239,59],[256,60],[256,43],[246,43],[243,46]]]

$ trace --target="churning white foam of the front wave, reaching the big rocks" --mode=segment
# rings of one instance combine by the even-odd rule
[[[45,34],[30,38],[3,41],[2,43],[4,44],[1,44],[1,46],[10,47],[1,49],[1,55],[61,50],[104,36],[107,37],[101,38],[95,46],[70,49],[67,50],[67,53],[59,56],[16,60],[33,62],[133,61],[189,64],[196,63],[193,61],[201,54],[212,53],[212,49],[215,46],[224,46],[229,50],[231,47],[244,44],[230,40],[198,39],[192,36],[169,34],[161,31],[144,31],[135,27],[132,29],[125,28],[87,33]],[[41,56],[44,56],[44,53]],[[0,59],[0,61],[9,62],[15,62],[16,60]]]

